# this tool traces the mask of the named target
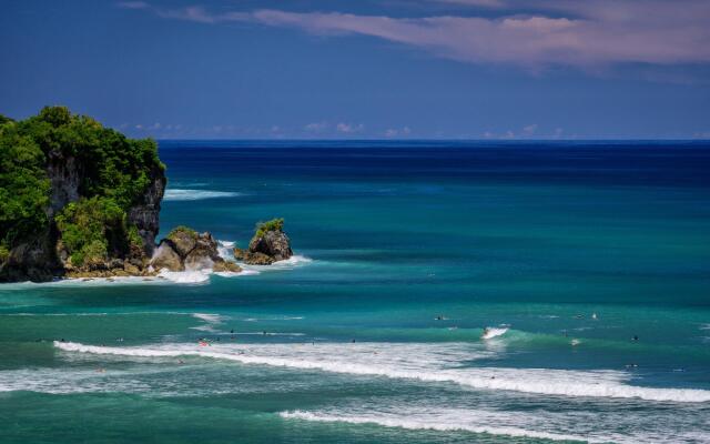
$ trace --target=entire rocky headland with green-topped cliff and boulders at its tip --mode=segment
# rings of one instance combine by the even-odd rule
[[[155,242],[168,179],[151,139],[133,140],[64,107],[0,115],[0,282],[240,272],[212,234],[178,226]],[[234,260],[293,255],[283,219],[258,223]]]

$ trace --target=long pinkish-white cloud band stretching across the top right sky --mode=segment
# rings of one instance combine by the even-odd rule
[[[160,17],[202,23],[254,22],[321,36],[361,34],[471,63],[585,69],[613,63],[710,63],[708,0],[446,0],[504,8],[496,18],[394,18],[343,12],[209,12],[152,8]],[[519,14],[518,10],[531,11]],[[146,8],[143,8],[146,9]]]

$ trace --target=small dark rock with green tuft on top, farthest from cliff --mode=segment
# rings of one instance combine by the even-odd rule
[[[291,240],[283,231],[283,219],[260,223],[248,249],[234,249],[234,258],[250,265],[271,265],[293,255]]]

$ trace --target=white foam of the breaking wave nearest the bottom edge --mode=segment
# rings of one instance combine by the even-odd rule
[[[595,442],[588,437],[537,432],[515,426],[494,426],[497,423],[496,414],[487,412],[470,411],[444,411],[427,412],[426,415],[418,415],[414,412],[407,412],[407,415],[393,413],[374,413],[363,415],[342,415],[328,414],[321,412],[281,412],[280,416],[286,420],[302,420],[316,422],[341,422],[348,424],[377,424],[385,427],[399,427],[407,430],[432,430],[439,432],[471,432],[485,433],[489,435],[504,435],[514,437],[532,437],[552,441],[581,441]],[[491,421],[493,420],[493,421]],[[601,441],[598,441],[601,442]]]

